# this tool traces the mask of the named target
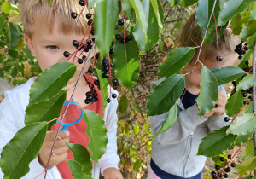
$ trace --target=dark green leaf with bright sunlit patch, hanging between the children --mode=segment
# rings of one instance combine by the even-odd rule
[[[134,39],[126,43],[126,56],[124,44],[114,43],[113,63],[119,83],[131,89],[136,84],[140,72],[139,49]]]

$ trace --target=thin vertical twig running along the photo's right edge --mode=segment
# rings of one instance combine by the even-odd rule
[[[254,46],[253,46],[253,76],[255,78],[255,58],[256,58],[256,38],[254,40]],[[253,114],[254,114],[254,118],[256,119],[256,100],[255,100],[255,82],[253,84]],[[256,156],[256,129],[254,129],[254,136],[253,136],[253,140],[254,140],[254,156]],[[254,170],[254,175],[256,174],[256,169]]]

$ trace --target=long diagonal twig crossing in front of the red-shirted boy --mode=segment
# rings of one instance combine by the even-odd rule
[[[91,49],[94,49],[95,46],[96,46],[96,43],[94,43],[94,44],[92,45]],[[82,68],[82,70],[81,70],[81,72],[80,72],[80,75],[79,75],[79,78],[78,78],[78,80],[77,80],[77,83],[76,83],[76,85],[75,85],[75,87],[74,87],[74,89],[73,89],[73,93],[72,93],[72,95],[71,95],[71,97],[70,97],[70,99],[69,99],[69,101],[68,101],[68,103],[67,103],[67,108],[69,107],[70,102],[73,100],[73,95],[74,95],[75,91],[77,90],[77,87],[78,87],[78,85],[79,85],[80,78],[82,77],[82,75],[83,75],[83,73],[84,73],[84,68],[85,68],[85,66],[87,65],[88,61],[90,61],[90,55],[91,55],[91,53],[92,53],[92,51],[93,51],[93,50],[91,50],[91,49],[90,49],[90,53],[89,53],[89,55],[87,56],[87,59],[86,59],[86,61],[85,61],[85,63],[84,63],[84,66],[83,66],[83,68]],[[64,111],[64,113],[63,113],[63,115],[62,115],[61,124],[62,124],[62,121],[63,121],[63,119],[64,119],[64,117],[65,117],[65,115],[66,115],[66,113],[67,113],[67,108],[65,109],[65,111]],[[51,156],[52,156],[52,154],[53,154],[53,152],[54,152],[54,148],[55,148],[55,142],[56,142],[56,140],[57,140],[57,138],[58,138],[58,136],[59,136],[59,134],[60,134],[60,131],[61,131],[61,124],[60,124],[60,126],[59,126],[59,128],[58,128],[58,130],[57,130],[57,134],[56,134],[56,136],[55,136],[55,141],[54,141],[53,146],[52,146],[52,148],[51,148],[51,151],[50,151],[50,153],[49,153],[49,159],[48,159],[47,165],[46,165],[46,167],[45,167],[44,179],[46,179],[47,170],[48,170],[48,167],[49,167],[49,161],[50,161],[50,159],[51,159]]]

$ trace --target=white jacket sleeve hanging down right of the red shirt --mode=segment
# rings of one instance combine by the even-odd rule
[[[115,94],[118,95],[118,92],[113,90]],[[119,155],[117,154],[117,110],[118,101],[117,99],[111,99],[111,102],[108,103],[108,106],[104,112],[105,125],[107,128],[107,150],[106,153],[102,155],[102,158],[99,159],[99,165],[101,167],[101,172],[103,175],[103,171],[109,167],[114,167],[118,169],[119,164]]]

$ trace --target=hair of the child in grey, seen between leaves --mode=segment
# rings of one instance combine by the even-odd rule
[[[215,31],[214,31],[215,32]],[[228,29],[225,29],[224,34],[218,38],[218,49],[220,55],[227,56],[230,53],[235,53],[236,45],[240,43],[238,36],[230,35],[231,32]],[[202,42],[202,31],[200,26],[198,26],[195,20],[195,13],[191,14],[189,20],[187,20],[181,30],[177,42],[176,48],[178,47],[198,47]],[[195,55],[198,54],[199,48],[195,49]],[[221,63],[221,61],[216,61],[217,57],[217,44],[216,42],[204,43],[201,50],[201,59],[202,60],[213,60],[212,62]],[[195,61],[195,58],[192,59]]]

